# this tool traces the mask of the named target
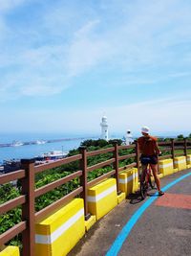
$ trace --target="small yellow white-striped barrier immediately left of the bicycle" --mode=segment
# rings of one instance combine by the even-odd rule
[[[119,174],[119,190],[125,195],[138,190],[138,169],[132,168]]]

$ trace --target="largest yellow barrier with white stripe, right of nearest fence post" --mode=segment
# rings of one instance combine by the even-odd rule
[[[35,256],[64,256],[85,234],[84,203],[74,198],[35,224]]]

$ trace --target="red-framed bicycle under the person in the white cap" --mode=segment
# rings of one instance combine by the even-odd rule
[[[149,189],[149,185],[151,189],[155,188],[155,180],[151,179],[151,167],[147,166],[140,175],[140,197],[143,200],[147,196],[147,191]]]

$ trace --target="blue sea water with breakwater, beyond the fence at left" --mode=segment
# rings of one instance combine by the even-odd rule
[[[32,158],[49,151],[68,152],[80,146],[86,139],[96,138],[95,135],[86,134],[58,134],[58,133],[1,133],[0,144],[12,143],[12,141],[32,142],[37,140],[63,140],[53,143],[32,144],[15,147],[0,148],[0,162],[10,159]]]

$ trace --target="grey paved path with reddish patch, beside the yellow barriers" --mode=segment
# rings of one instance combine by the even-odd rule
[[[180,176],[190,174],[191,170],[181,171],[161,179],[165,187]],[[191,175],[169,188],[162,197],[155,197],[151,191],[147,200],[140,201],[132,195],[121,202],[113,211],[97,221],[86,236],[74,247],[69,256],[183,256],[191,255]],[[153,197],[152,197],[153,196]],[[118,240],[118,253],[111,249],[122,228],[132,220],[135,212],[144,207],[150,198],[155,200],[143,212],[129,235],[121,243]],[[123,228],[124,229],[124,228]],[[124,237],[124,236],[123,236]]]

